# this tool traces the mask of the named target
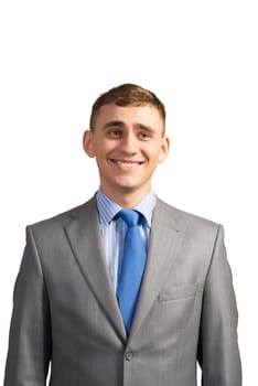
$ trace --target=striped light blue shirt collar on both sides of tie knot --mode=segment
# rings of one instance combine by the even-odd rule
[[[96,194],[97,200],[97,208],[99,213],[100,223],[108,225],[112,218],[116,216],[116,214],[122,210],[120,205],[111,201],[106,194],[101,191],[101,189],[98,190]],[[137,210],[140,212],[146,221],[149,227],[151,227],[151,218],[152,218],[152,212],[157,203],[155,194],[152,190],[136,205],[133,206],[133,210]]]

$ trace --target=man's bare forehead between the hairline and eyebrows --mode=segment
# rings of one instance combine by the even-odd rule
[[[146,125],[155,127],[163,127],[163,119],[160,111],[151,105],[129,105],[117,106],[108,104],[100,107],[96,116],[96,127],[104,126],[108,121],[122,121],[128,125]]]

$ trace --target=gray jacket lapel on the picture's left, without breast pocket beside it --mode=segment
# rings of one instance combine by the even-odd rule
[[[65,232],[85,280],[114,329],[125,340],[126,330],[109,278],[95,199],[74,214]]]

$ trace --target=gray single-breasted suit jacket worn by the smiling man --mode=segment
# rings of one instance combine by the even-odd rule
[[[26,228],[4,386],[239,386],[237,309],[222,226],[158,200],[129,339],[96,201]]]

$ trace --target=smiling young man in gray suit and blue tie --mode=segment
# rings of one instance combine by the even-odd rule
[[[26,228],[4,386],[45,385],[50,363],[52,386],[192,386],[197,362],[204,386],[241,384],[223,227],[151,190],[169,146],[153,93],[95,101],[84,149],[100,187]]]

